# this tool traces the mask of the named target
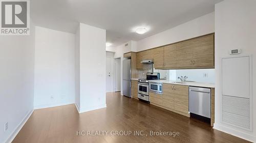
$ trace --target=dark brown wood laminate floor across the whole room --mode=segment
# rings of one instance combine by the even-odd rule
[[[209,124],[196,119],[120,96],[119,92],[107,93],[106,104],[106,108],[80,114],[74,104],[35,110],[13,142],[248,142],[214,130]],[[144,136],[133,133],[129,136],[111,134],[77,136],[77,130],[112,131],[112,133],[143,131]],[[151,136],[150,131],[175,131],[179,132],[179,135]]]

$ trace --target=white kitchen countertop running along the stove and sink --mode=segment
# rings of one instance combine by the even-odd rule
[[[137,78],[132,78],[132,80],[138,80]],[[194,87],[203,87],[203,88],[215,88],[215,84],[213,83],[201,83],[201,82],[183,82],[183,83],[177,83],[180,81],[172,81],[172,80],[149,80],[149,81],[154,81],[154,82],[162,82],[162,83],[171,83],[171,84],[181,84],[181,85],[188,85],[188,86],[194,86]]]

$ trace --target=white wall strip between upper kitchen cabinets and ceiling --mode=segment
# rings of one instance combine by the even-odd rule
[[[137,41],[137,51],[159,47],[209,33],[214,33],[214,12]]]

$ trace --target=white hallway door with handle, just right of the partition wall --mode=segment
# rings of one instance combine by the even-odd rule
[[[112,58],[106,57],[106,92],[113,92]]]

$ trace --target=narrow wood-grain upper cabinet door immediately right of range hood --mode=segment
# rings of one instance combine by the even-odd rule
[[[153,49],[154,68],[164,68],[164,47]]]

